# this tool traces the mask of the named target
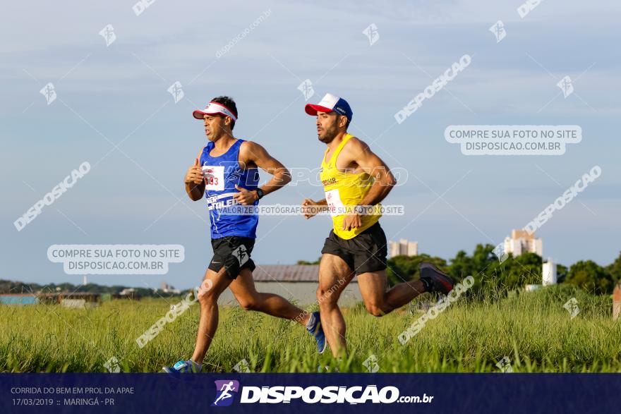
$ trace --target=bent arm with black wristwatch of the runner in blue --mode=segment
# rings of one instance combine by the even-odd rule
[[[291,173],[289,173],[289,170],[256,142],[243,142],[239,149],[239,159],[241,162],[245,162],[246,165],[254,164],[267,173],[272,174],[270,181],[267,181],[265,185],[260,187],[263,191],[263,195],[273,193],[291,181]],[[236,185],[235,188],[239,190],[239,193],[233,197],[242,205],[252,204],[259,198],[255,190],[248,191],[238,185]]]

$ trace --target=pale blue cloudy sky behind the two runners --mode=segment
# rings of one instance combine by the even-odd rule
[[[195,286],[212,252],[205,202],[183,189],[206,142],[192,110],[230,95],[237,137],[260,142],[289,167],[313,169],[325,147],[303,111],[297,87],[305,79],[315,90],[310,101],[326,92],[348,99],[350,132],[408,171],[385,202],[406,207],[404,217],[382,219],[389,240],[418,241],[419,251],[445,258],[500,243],[597,164],[602,176],[537,236],[544,256],[563,264],[608,264],[619,255],[617,2],[547,0],[524,18],[513,0],[156,0],[140,16],[133,3],[4,6],[0,279],[80,282],[47,260],[52,244],[181,244],[186,260],[169,274],[90,281]],[[507,32],[499,43],[488,30],[497,20]],[[373,46],[362,33],[371,23],[380,35]],[[99,32],[108,24],[116,40],[106,47]],[[397,125],[394,113],[464,54],[470,66]],[[575,88],[567,98],[556,85],[565,75]],[[175,81],[185,94],[176,104],[167,92]],[[58,97],[49,105],[39,93],[48,82]],[[473,157],[443,135],[450,125],[523,124],[579,125],[583,139],[556,157]],[[84,161],[92,171],[16,231],[13,221]],[[322,189],[290,185],[264,201],[303,197],[321,198]],[[262,217],[255,262],[314,260],[329,231],[327,217]]]

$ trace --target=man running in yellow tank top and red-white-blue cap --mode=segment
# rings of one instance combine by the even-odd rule
[[[345,99],[327,94],[319,104],[306,105],[317,116],[317,135],[327,145],[320,178],[325,199],[303,201],[306,219],[320,209],[332,214],[333,229],[321,250],[317,300],[321,324],[332,355],[346,353],[345,321],[337,301],[354,276],[366,310],[383,316],[423,292],[449,293],[450,276],[430,263],[421,264],[421,279],[386,291],[387,242],[380,227],[380,202],[397,183],[385,162],[368,145],[347,133],[353,112]]]

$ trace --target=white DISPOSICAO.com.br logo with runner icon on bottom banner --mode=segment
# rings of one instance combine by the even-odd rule
[[[216,381],[217,395],[212,406],[229,406],[234,399],[231,392],[239,390],[239,382]],[[303,403],[430,403],[433,396],[399,396],[396,386],[243,386],[240,403],[291,403],[300,399]]]

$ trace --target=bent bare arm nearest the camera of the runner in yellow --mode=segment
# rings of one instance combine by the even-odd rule
[[[384,200],[392,187],[397,184],[397,180],[386,163],[358,138],[351,138],[349,145],[346,145],[344,149],[346,149],[347,159],[351,159],[351,162],[357,164],[358,168],[374,178],[373,185],[361,200],[360,205],[376,205]]]

